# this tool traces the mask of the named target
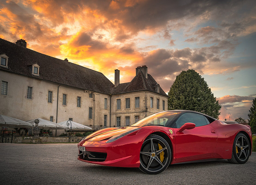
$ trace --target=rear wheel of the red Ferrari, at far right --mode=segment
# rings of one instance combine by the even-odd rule
[[[250,153],[251,146],[248,138],[243,133],[238,133],[233,143],[232,158],[228,161],[235,164],[244,164],[248,161]]]

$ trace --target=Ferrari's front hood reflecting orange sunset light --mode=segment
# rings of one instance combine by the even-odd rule
[[[88,135],[85,140],[86,141],[102,141],[108,138],[111,138],[115,135],[120,135],[124,132],[128,132],[130,130],[136,129],[137,127],[120,127],[120,128],[107,128],[98,130],[91,135]]]

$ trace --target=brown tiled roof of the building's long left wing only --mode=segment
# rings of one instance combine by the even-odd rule
[[[80,89],[110,94],[113,83],[98,71],[38,53],[0,38],[0,54],[3,53],[9,57],[8,69],[0,67],[1,70]],[[29,65],[34,63],[40,66],[39,76],[33,75],[28,68]]]

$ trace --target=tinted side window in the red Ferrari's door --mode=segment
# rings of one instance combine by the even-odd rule
[[[176,121],[176,128],[180,128],[185,123],[195,123],[196,127],[208,124],[203,115],[190,112],[180,116],[180,118]]]

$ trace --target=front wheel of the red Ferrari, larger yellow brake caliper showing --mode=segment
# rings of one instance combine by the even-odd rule
[[[144,173],[161,173],[168,167],[171,161],[169,144],[164,138],[158,135],[148,136],[142,144],[139,161],[139,169]]]

